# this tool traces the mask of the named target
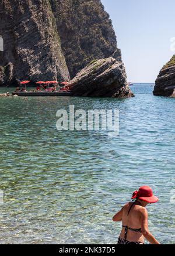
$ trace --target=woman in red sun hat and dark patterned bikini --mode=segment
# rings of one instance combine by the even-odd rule
[[[113,221],[122,221],[122,231],[118,244],[144,244],[145,238],[150,244],[160,244],[148,229],[149,203],[157,203],[159,199],[153,195],[148,186],[141,187],[132,195],[132,200],[113,217]]]

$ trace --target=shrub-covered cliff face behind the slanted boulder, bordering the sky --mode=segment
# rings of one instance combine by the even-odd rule
[[[92,60],[121,62],[115,32],[100,0],[51,0],[69,73],[75,77]]]

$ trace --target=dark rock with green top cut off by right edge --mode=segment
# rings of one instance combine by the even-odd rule
[[[175,55],[171,58],[157,76],[153,91],[157,96],[171,96],[175,94]]]

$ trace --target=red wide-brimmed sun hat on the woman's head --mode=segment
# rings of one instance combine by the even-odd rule
[[[131,199],[140,199],[148,203],[157,203],[159,201],[159,198],[153,195],[152,188],[148,186],[143,186],[138,191],[136,190]]]

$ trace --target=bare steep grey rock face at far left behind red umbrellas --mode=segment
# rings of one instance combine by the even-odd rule
[[[49,0],[1,0],[0,85],[19,80],[69,80]]]

